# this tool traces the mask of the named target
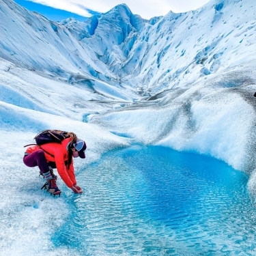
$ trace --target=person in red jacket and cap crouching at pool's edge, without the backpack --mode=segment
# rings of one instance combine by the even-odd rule
[[[61,190],[56,184],[57,176],[54,175],[53,168],[57,168],[59,176],[68,188],[71,188],[75,194],[80,194],[83,193],[83,190],[76,184],[73,158],[78,156],[85,158],[85,150],[85,141],[76,137],[76,134],[72,134],[61,143],[53,142],[28,147],[23,162],[27,167],[39,167],[40,174],[46,180],[42,188],[46,189],[51,195],[61,194]]]

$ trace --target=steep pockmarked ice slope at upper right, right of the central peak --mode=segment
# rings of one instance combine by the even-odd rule
[[[215,0],[193,12],[169,12],[143,30],[115,70],[151,94],[190,87],[200,76],[255,62],[255,29],[253,1]]]

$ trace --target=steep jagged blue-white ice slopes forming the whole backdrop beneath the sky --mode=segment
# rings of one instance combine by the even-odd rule
[[[253,1],[212,0],[151,20],[123,4],[84,23],[54,23],[12,0],[1,5],[1,57],[71,82],[93,76],[154,95],[255,61]]]

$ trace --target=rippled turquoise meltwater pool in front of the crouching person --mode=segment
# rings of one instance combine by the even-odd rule
[[[256,255],[248,178],[165,147],[109,152],[78,177],[57,247],[78,255]]]

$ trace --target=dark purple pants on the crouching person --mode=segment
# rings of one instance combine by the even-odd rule
[[[23,162],[27,167],[36,167],[40,169],[40,173],[47,173],[49,171],[48,162],[42,150],[37,150],[27,156],[24,156]]]

